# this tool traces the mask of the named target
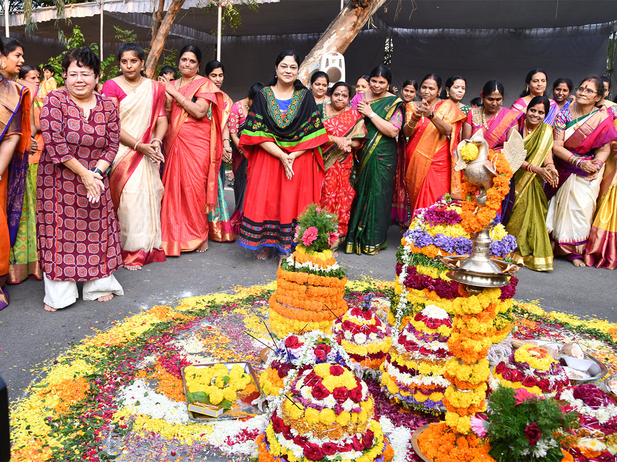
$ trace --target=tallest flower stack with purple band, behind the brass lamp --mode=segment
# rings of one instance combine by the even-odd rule
[[[460,202],[442,197],[424,209],[419,209],[409,229],[401,239],[397,252],[394,298],[388,322],[402,330],[427,304],[437,305],[453,315],[453,301],[461,296],[459,283],[447,277],[449,269],[437,256],[471,253],[471,235],[461,218]],[[497,223],[491,232],[491,255],[503,258],[516,249],[516,239]],[[511,298],[518,279],[501,289],[492,341],[501,341],[511,329]]]

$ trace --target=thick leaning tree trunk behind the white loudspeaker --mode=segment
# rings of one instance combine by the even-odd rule
[[[330,23],[319,41],[305,57],[302,65],[300,65],[298,72],[300,81],[305,85],[309,83],[309,69],[317,60],[321,59],[321,55],[331,51],[344,53],[358,32],[362,30],[366,21],[375,14],[384,2],[386,0],[354,0],[349,2],[334,18],[333,22]],[[366,6],[362,7],[358,4]]]

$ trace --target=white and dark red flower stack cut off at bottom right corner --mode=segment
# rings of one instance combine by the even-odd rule
[[[557,398],[578,415],[576,442],[569,448],[575,462],[617,460],[617,406],[597,386],[584,384],[562,389]]]

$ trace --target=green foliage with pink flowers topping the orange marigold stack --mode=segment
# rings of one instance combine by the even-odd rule
[[[308,251],[322,252],[330,248],[330,239],[334,233],[338,238],[338,222],[338,217],[335,214],[329,213],[328,210],[315,203],[310,204],[298,217],[294,240],[304,245]],[[310,236],[314,237],[315,232],[317,232],[317,237],[309,238]]]

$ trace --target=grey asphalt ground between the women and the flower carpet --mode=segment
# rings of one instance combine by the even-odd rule
[[[226,190],[233,211],[233,191]],[[393,280],[396,251],[402,232],[391,227],[388,248],[376,256],[339,254],[337,261],[350,279],[369,276]],[[115,273],[125,295],[109,302],[78,300],[55,313],[43,310],[43,282],[29,279],[9,285],[10,304],[0,311],[0,376],[14,400],[36,378],[39,365],[48,363],[70,344],[105,329],[115,320],[147,310],[154,305],[173,305],[194,295],[225,291],[232,286],[250,286],[276,278],[278,259],[255,258],[255,252],[238,243],[210,242],[205,253],[189,252],[169,257],[167,262],[146,265],[141,271],[120,269]],[[617,271],[576,268],[555,260],[552,272],[523,268],[516,299],[539,300],[542,307],[617,322]],[[80,292],[81,292],[81,284]]]

